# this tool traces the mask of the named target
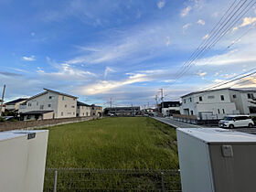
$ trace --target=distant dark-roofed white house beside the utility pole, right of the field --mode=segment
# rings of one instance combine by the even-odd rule
[[[180,113],[180,102],[179,101],[163,101],[159,104],[160,112],[164,116],[172,116],[174,113]]]

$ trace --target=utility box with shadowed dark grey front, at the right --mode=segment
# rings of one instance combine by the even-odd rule
[[[256,135],[220,128],[176,134],[183,192],[256,191]]]

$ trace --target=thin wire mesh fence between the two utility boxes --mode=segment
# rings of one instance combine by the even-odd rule
[[[181,191],[178,170],[46,169],[44,192]]]

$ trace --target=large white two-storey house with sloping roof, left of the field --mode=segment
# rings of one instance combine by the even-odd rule
[[[44,90],[21,104],[19,113],[53,111],[52,118],[55,119],[76,117],[77,97],[59,91]]]

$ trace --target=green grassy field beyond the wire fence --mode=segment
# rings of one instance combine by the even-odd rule
[[[176,169],[176,131],[147,117],[51,127],[47,167]]]

